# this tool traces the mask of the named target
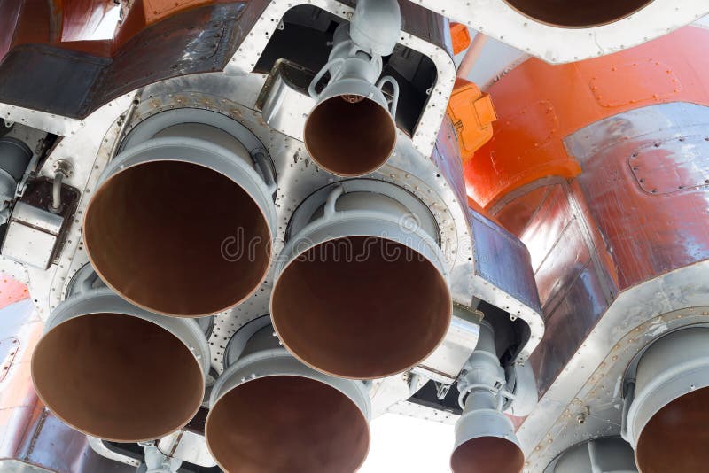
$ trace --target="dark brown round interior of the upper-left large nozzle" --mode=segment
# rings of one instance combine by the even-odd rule
[[[227,176],[183,161],[114,174],[91,200],[83,236],[101,278],[160,314],[226,310],[269,268],[269,225],[253,198]]]

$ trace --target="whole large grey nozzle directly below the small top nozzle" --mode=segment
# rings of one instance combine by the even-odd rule
[[[452,311],[434,230],[415,223],[427,209],[393,184],[370,185],[348,181],[315,212],[318,194],[301,205],[293,220],[305,225],[291,225],[271,298],[278,335],[300,361],[353,379],[416,366],[445,337]],[[401,193],[424,210],[392,197]]]

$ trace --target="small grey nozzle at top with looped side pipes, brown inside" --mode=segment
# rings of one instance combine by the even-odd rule
[[[362,2],[357,4],[357,13],[362,19],[362,5],[369,5],[366,16],[380,18],[378,8],[393,4],[395,12],[389,26],[393,32],[393,43],[387,35],[367,35],[364,31],[371,23],[360,20],[357,37],[369,44],[354,43],[347,24],[335,32],[334,47],[330,61],[316,74],[310,84],[309,93],[317,99],[316,106],[308,115],[303,137],[308,153],[318,166],[332,174],[359,176],[370,174],[384,165],[396,146],[396,107],[399,101],[399,85],[392,77],[378,80],[382,73],[382,58],[373,50],[388,50],[396,44],[399,36],[400,13],[396,2]],[[388,52],[391,54],[391,51]],[[324,74],[331,79],[321,93],[316,93],[316,85]],[[385,84],[393,88],[391,105],[382,88]]]

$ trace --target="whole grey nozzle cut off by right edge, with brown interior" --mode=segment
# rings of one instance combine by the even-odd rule
[[[643,353],[627,438],[642,473],[704,471],[709,464],[709,328],[678,330]]]

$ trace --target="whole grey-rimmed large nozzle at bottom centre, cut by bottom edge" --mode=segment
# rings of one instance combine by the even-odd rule
[[[254,324],[253,335],[240,333]],[[370,446],[365,385],[323,375],[297,361],[279,345],[268,316],[234,337],[226,358],[233,355],[238,361],[214,384],[206,420],[207,445],[222,469],[358,469]]]

